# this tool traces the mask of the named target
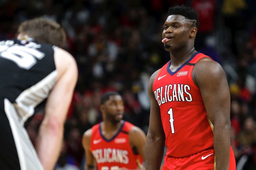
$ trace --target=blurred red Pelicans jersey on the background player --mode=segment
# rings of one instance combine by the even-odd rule
[[[100,124],[92,127],[90,150],[99,170],[138,169],[138,165],[142,165],[141,156],[133,153],[129,143],[129,131],[133,126],[124,121],[110,140],[102,135]]]

